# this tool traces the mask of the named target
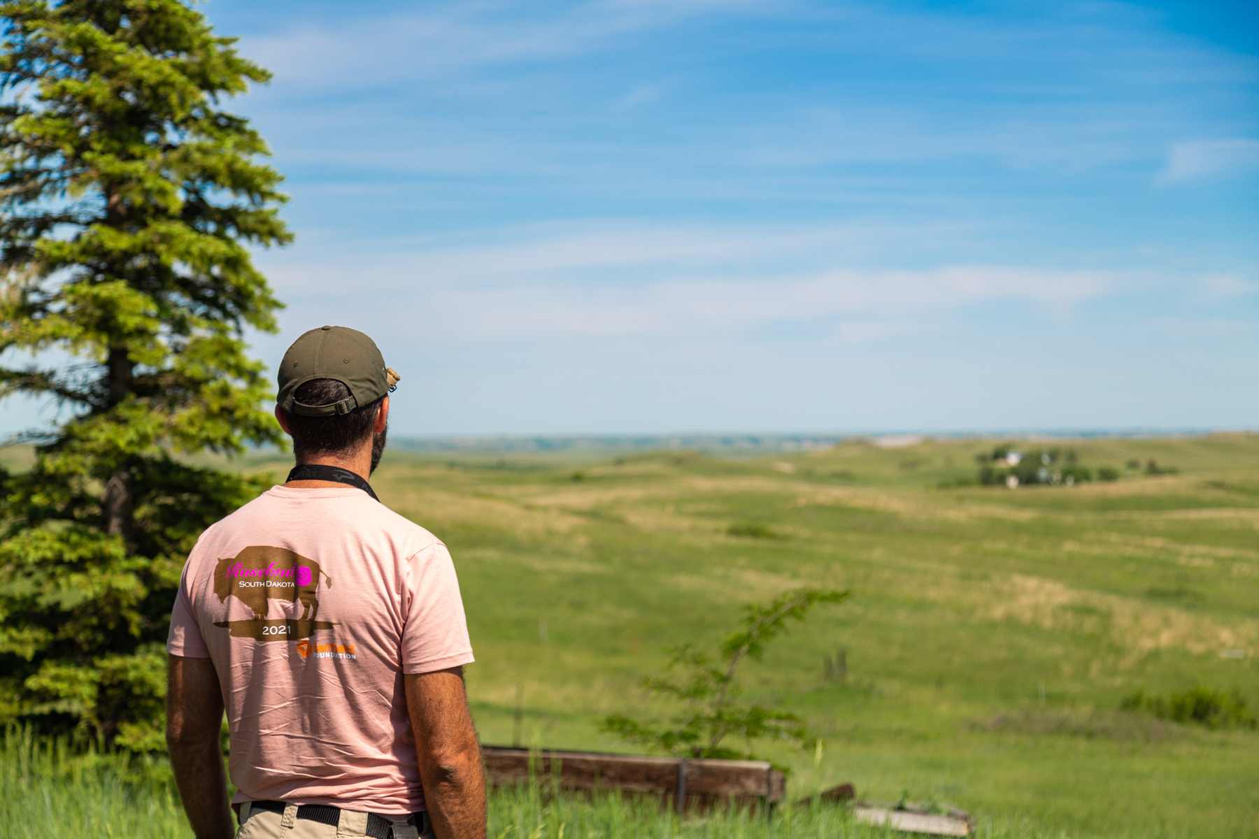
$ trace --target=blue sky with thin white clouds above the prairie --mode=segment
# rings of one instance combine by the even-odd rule
[[[1259,426],[1253,4],[200,9],[394,434]]]

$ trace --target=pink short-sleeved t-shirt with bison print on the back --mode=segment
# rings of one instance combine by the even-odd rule
[[[441,541],[353,487],[272,487],[198,540],[166,649],[209,658],[235,801],[424,808],[403,673],[472,660]]]

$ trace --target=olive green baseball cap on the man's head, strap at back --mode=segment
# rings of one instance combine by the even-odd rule
[[[350,396],[331,405],[306,405],[293,399],[298,387],[313,379],[335,379]],[[376,342],[347,326],[321,326],[305,332],[279,362],[276,401],[290,414],[331,416],[349,414],[392,392],[402,379],[385,366]]]

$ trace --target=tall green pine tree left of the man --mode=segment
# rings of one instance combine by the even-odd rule
[[[62,408],[0,474],[0,722],[155,748],[183,561],[257,492],[179,455],[277,440],[243,332],[276,328],[248,247],[290,242],[285,197],[219,109],[269,74],[180,0],[0,25],[0,397]]]

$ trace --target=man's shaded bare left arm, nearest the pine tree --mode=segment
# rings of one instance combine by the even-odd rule
[[[219,752],[223,694],[208,658],[169,655],[166,747],[184,811],[198,839],[232,839],[232,813]]]

